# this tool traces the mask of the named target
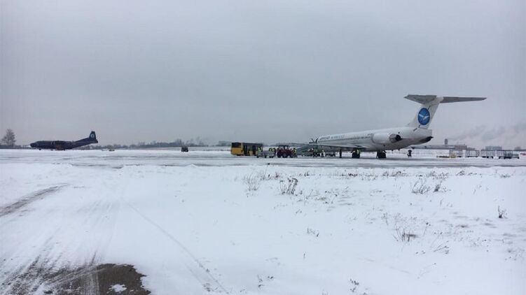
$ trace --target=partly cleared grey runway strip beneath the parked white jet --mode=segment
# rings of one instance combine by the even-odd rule
[[[155,166],[293,166],[293,167],[523,167],[524,159],[444,159],[437,155],[388,153],[387,159],[376,159],[374,153],[364,153],[361,159],[352,159],[349,153],[338,157],[296,159],[264,159],[236,157],[226,150],[1,150],[2,163],[71,164],[74,166],[155,165]]]

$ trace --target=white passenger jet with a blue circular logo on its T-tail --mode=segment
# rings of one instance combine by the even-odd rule
[[[485,97],[456,97],[436,95],[408,94],[410,101],[421,103],[413,121],[406,127],[368,130],[346,134],[319,136],[307,145],[328,147],[329,150],[352,150],[352,157],[359,158],[360,152],[376,152],[376,157],[385,158],[386,150],[400,150],[409,145],[427,143],[433,138],[432,130],[428,129],[436,109],[440,103],[455,103],[460,101],[483,101]]]

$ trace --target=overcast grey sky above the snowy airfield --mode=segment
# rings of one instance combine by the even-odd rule
[[[403,126],[526,146],[526,1],[1,0],[0,127],[18,143],[307,141]]]

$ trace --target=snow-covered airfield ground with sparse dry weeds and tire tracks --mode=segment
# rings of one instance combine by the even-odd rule
[[[526,294],[524,159],[345,156],[0,150],[0,294]]]

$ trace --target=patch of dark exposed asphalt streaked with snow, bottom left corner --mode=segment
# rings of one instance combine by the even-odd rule
[[[32,264],[4,280],[0,294],[150,294],[142,286],[142,277],[144,275],[128,264],[99,264],[75,269],[53,269]],[[112,288],[114,285],[122,285],[125,290],[117,293]]]

